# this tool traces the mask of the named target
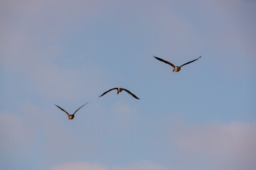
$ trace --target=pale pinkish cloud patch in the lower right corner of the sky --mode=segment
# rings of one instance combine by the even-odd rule
[[[197,162],[206,169],[255,169],[256,122],[181,123],[171,130],[180,162]]]

